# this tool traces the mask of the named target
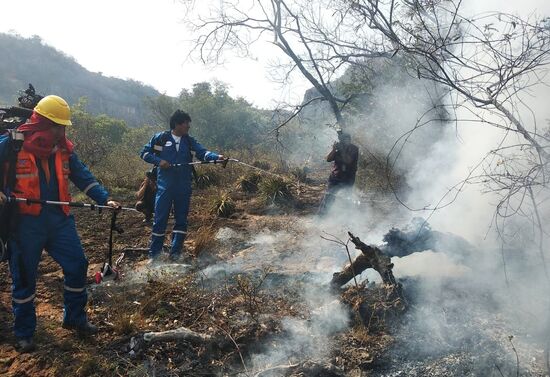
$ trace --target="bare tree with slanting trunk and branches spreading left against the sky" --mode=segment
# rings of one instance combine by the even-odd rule
[[[326,3],[326,4],[324,4]],[[363,48],[362,43],[341,44],[340,34],[345,25],[341,15],[335,20],[330,8],[331,2],[313,3],[295,0],[247,0],[222,1],[218,9],[209,17],[198,16],[195,23],[197,39],[195,49],[203,62],[219,63],[223,53],[250,56],[256,43],[270,43],[287,58],[278,64],[282,70],[282,81],[298,71],[319,93],[310,99],[327,101],[336,122],[342,127],[345,119],[342,109],[353,96],[341,98],[332,85],[333,79],[356,59],[389,57],[381,48]],[[345,49],[343,54],[340,49]],[[294,106],[289,119],[294,118],[304,108]]]

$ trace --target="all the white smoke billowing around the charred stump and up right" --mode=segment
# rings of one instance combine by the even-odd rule
[[[470,1],[467,11],[470,14],[487,10],[513,11],[515,6],[492,0]],[[537,6],[539,12],[550,13],[550,4],[542,1],[523,2],[523,13],[534,11]],[[437,94],[434,90],[433,86],[413,78],[388,80],[387,85],[379,82],[376,92],[367,99],[368,115],[350,124],[354,140],[363,152],[368,149],[369,152],[387,153],[393,143],[414,128],[433,106],[433,95]],[[538,94],[536,97],[522,98],[533,109],[539,126],[546,125],[546,119],[550,118],[550,109],[543,103],[543,99],[547,102],[549,98],[548,89],[541,90],[533,92]],[[466,117],[460,111],[456,116],[458,119]],[[521,118],[533,117],[522,112]],[[314,137],[297,137],[300,149],[293,150],[289,158],[298,163],[311,157],[323,164],[323,157],[335,138],[328,123],[320,120]],[[401,350],[411,347],[411,358],[439,357],[445,352],[486,353],[490,357],[476,365],[473,375],[488,375],[496,360],[491,361],[491,357],[496,355],[498,360],[509,362],[512,351],[506,341],[508,336],[518,337],[522,344],[528,343],[528,337],[540,341],[537,337],[548,323],[549,306],[548,283],[540,268],[539,245],[533,239],[536,232],[532,229],[525,232],[521,224],[511,222],[507,232],[511,232],[513,226],[515,233],[512,234],[517,242],[513,248],[508,244],[501,249],[502,238],[492,221],[498,198],[484,193],[482,185],[456,188],[456,184],[467,178],[502,138],[501,130],[480,127],[478,123],[433,122],[398,145],[403,146],[402,150],[398,149],[401,151],[398,167],[407,171],[410,186],[409,196],[403,199],[411,207],[433,207],[441,204],[440,199],[449,193],[443,202],[449,205],[435,212],[411,213],[392,201],[362,201],[362,197],[344,194],[337,198],[327,216],[313,217],[300,224],[303,227],[298,232],[300,241],[292,241],[296,233],[268,231],[250,241],[254,252],[251,249],[239,256],[241,259],[236,259],[235,265],[240,268],[260,264],[273,266],[283,273],[300,270],[319,273],[318,280],[306,285],[303,292],[304,301],[311,309],[310,320],[287,318],[283,322],[283,335],[251,358],[255,370],[293,362],[296,355],[322,357],[329,351],[325,345],[330,334],[347,326],[347,311],[333,304],[335,298],[321,288],[323,282],[330,281],[332,272],[348,263],[348,256],[342,245],[321,236],[345,243],[347,232],[351,231],[365,243],[381,244],[383,235],[391,227],[403,227],[419,214],[429,217],[433,229],[465,237],[477,247],[478,253],[463,260],[457,260],[448,250],[428,250],[394,258],[396,277],[403,279],[405,291],[413,294],[408,321],[401,328],[404,334],[400,339],[403,341]],[[324,164],[328,176],[329,165]],[[456,198],[455,194],[458,194]],[[357,204],[357,201],[362,202]],[[547,208],[541,210],[546,222],[550,212]],[[543,242],[543,246],[549,245],[546,237]],[[358,253],[353,247],[350,252],[352,258]],[[547,253],[547,246],[543,253]],[[254,258],[246,261],[252,254]],[[505,265],[509,286],[505,282]],[[370,276],[370,280],[376,280]],[[321,310],[316,311],[318,308]],[[524,356],[520,352],[520,357]]]

